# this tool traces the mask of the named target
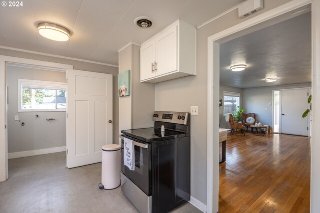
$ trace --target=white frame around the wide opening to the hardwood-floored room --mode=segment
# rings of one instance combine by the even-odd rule
[[[247,19],[241,23],[231,26],[225,30],[222,30],[216,34],[213,34],[207,38],[207,177],[206,177],[206,212],[213,213],[218,212],[218,200],[219,200],[219,164],[218,164],[218,150],[219,150],[219,133],[218,133],[218,113],[219,108],[216,104],[219,100],[219,41],[220,39],[239,32],[240,30],[247,29],[248,27],[258,25],[266,20],[274,18],[283,13],[289,12],[293,9],[301,7],[303,5],[311,3],[311,35],[312,35],[312,103],[317,104],[320,100],[320,44],[319,34],[320,27],[316,23],[320,22],[320,13],[316,14],[316,11],[320,11],[320,2],[316,0],[291,0],[259,15],[256,15],[250,19]],[[312,12],[314,11],[314,12]],[[319,72],[319,74],[317,74]],[[318,96],[319,95],[319,96]],[[316,111],[312,112],[312,127],[320,126],[320,113]],[[318,131],[320,132],[320,131]],[[313,132],[313,138],[320,138],[320,133]],[[213,143],[212,143],[213,142]],[[311,150],[313,153],[320,150],[320,145],[311,144]],[[310,210],[320,210],[320,204],[317,204],[317,200],[320,200],[320,181],[312,181],[314,179],[320,179],[320,167],[316,167],[316,162],[320,161],[320,156],[316,157],[311,155],[311,197],[310,197]],[[315,172],[317,172],[315,174]]]

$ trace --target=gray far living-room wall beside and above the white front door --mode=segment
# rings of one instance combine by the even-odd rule
[[[272,90],[303,87],[311,87],[311,83],[243,89],[243,108],[247,113],[254,112],[262,124],[272,126]]]

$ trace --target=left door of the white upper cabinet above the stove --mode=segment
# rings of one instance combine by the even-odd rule
[[[155,45],[150,40],[140,47],[140,80],[154,77]]]

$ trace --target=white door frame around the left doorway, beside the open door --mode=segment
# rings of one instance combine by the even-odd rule
[[[6,64],[15,63],[22,64],[27,67],[44,68],[53,71],[66,72],[67,69],[73,69],[73,65],[61,64],[48,61],[33,60],[27,58],[11,57],[0,55],[0,182],[8,178],[8,155],[7,155],[7,106],[6,106]]]

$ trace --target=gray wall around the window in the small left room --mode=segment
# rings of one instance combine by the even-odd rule
[[[65,82],[65,72],[7,66],[8,153],[65,146],[65,112],[17,112],[19,78]],[[19,121],[14,120],[14,115],[19,116]],[[21,122],[25,125],[21,126]]]

